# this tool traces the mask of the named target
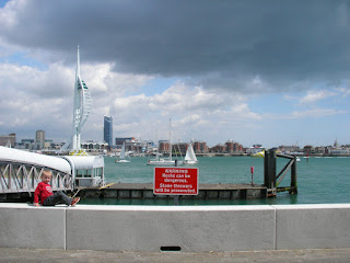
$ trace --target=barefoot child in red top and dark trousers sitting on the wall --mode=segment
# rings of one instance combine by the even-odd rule
[[[34,192],[34,206],[40,206],[39,201],[43,206],[55,206],[59,203],[73,206],[80,201],[80,197],[70,198],[61,191],[54,194],[51,185],[49,185],[52,178],[51,171],[44,170],[40,178],[42,182],[38,183]]]

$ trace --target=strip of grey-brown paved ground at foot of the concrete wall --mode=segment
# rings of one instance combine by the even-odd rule
[[[349,263],[349,249],[249,251],[249,252],[104,252],[92,250],[42,250],[0,248],[2,262],[142,262],[142,263],[220,263],[220,262],[269,262],[269,263]]]

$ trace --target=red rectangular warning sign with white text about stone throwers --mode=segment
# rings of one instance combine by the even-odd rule
[[[197,195],[198,168],[154,168],[153,193]]]

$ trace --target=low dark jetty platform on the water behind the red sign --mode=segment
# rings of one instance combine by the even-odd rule
[[[113,183],[104,187],[81,187],[81,197],[91,198],[174,198],[154,195],[152,183]],[[268,188],[252,184],[199,184],[198,195],[182,195],[187,199],[253,199],[267,198]]]

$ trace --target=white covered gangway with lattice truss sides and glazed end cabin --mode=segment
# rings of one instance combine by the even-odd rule
[[[0,197],[33,196],[44,170],[51,170],[52,191],[104,185],[103,157],[56,157],[0,147]]]

